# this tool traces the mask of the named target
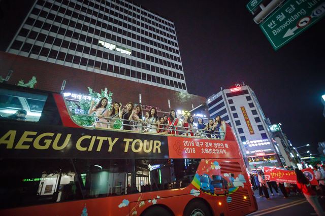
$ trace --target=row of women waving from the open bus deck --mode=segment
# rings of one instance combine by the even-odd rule
[[[193,116],[185,114],[183,121],[180,121],[175,110],[171,110],[169,115],[164,114],[158,117],[157,110],[152,107],[143,116],[141,105],[134,105],[128,102],[123,106],[119,102],[114,102],[112,109],[107,109],[108,99],[103,97],[96,105],[91,101],[89,115],[94,114],[95,128],[123,129],[139,132],[181,134],[188,136],[206,136],[212,138],[222,138],[224,134],[224,122],[220,116],[209,119],[206,124],[203,118],[197,120],[197,127],[194,125]]]

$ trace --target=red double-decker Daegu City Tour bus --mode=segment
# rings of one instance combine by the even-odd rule
[[[245,215],[257,210],[224,139],[77,125],[62,95],[0,86],[0,215]]]

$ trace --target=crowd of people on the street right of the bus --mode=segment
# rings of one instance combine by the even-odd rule
[[[259,196],[265,197],[267,200],[271,199],[270,194],[271,196],[275,194],[280,195],[279,191],[281,191],[283,198],[288,198],[292,195],[304,195],[306,200],[314,208],[316,214],[323,216],[325,213],[318,199],[325,199],[325,165],[315,165],[313,169],[318,184],[317,186],[312,186],[309,179],[298,168],[295,169],[297,184],[267,181],[262,170],[258,170],[256,174],[250,174],[250,183],[252,190],[258,191]]]

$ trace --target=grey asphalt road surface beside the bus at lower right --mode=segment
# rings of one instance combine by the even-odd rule
[[[283,198],[280,195],[270,196],[270,200],[265,197],[259,197],[258,192],[255,191],[258,210],[248,214],[249,216],[259,215],[295,215],[295,216],[308,216],[316,215],[313,207],[307,202],[303,195],[291,194],[288,198]],[[325,199],[318,199],[324,210],[325,215]]]

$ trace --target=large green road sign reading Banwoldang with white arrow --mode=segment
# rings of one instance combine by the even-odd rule
[[[325,15],[325,0],[287,0],[259,25],[275,50]]]

